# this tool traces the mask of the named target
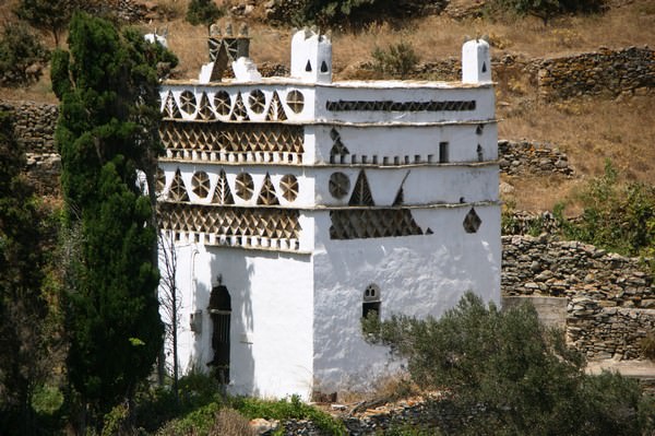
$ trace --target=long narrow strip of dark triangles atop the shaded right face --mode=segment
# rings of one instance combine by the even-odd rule
[[[389,102],[389,101],[327,101],[325,108],[331,111],[445,111],[475,110],[475,101],[430,101],[430,102]]]

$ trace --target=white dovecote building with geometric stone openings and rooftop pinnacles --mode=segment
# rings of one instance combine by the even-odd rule
[[[464,44],[462,82],[333,82],[312,31],[293,37],[290,76],[266,79],[246,36],[213,35],[200,79],[160,90],[183,369],[262,397],[362,390],[395,368],[362,315],[499,302],[487,43]]]

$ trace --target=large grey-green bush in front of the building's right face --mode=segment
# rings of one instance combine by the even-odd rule
[[[461,434],[641,435],[653,401],[619,375],[585,375],[584,358],[534,307],[500,310],[466,294],[440,319],[367,318],[369,342],[407,361],[412,379],[450,392]],[[642,416],[642,419],[640,419]],[[460,434],[460,433],[458,433]],[[645,434],[645,433],[643,433]]]

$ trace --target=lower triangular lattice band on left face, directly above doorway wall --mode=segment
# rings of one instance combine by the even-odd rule
[[[298,239],[300,213],[294,209],[223,208],[189,203],[159,203],[164,231],[213,234],[224,237]]]

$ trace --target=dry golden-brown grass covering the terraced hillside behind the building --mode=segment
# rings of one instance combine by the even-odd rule
[[[0,23],[11,16],[17,0],[0,0]],[[166,23],[150,23],[168,27],[169,47],[180,59],[178,76],[195,78],[202,63],[209,61],[206,28],[183,21],[189,0],[157,0],[178,17]],[[219,1],[225,5],[236,0]],[[263,1],[258,2],[254,17],[261,16]],[[336,79],[353,73],[352,66],[371,60],[374,47],[405,42],[413,45],[421,61],[460,57],[465,37],[489,35],[492,55],[505,54],[524,58],[555,57],[596,50],[599,46],[620,48],[643,46],[655,40],[655,2],[623,2],[608,13],[592,16],[564,16],[545,27],[540,20],[526,17],[505,22],[488,20],[453,21],[446,16],[428,16],[401,25],[371,24],[357,32],[333,34],[334,71]],[[616,2],[615,2],[616,4]],[[225,25],[229,19],[223,20]],[[233,25],[239,28],[241,21]],[[251,57],[258,63],[289,63],[291,31],[267,27],[257,20],[248,22],[251,35]],[[46,39],[47,42],[48,39]],[[50,42],[51,44],[51,42]],[[350,67],[350,68],[348,68]],[[0,90],[1,98],[56,102],[46,75],[35,85],[20,90]],[[524,177],[505,181],[515,188],[516,208],[546,210],[565,198],[591,176],[599,175],[606,158],[611,158],[626,179],[655,184],[655,95],[629,97],[622,101],[603,98],[580,99],[559,104],[539,103],[536,90],[520,70],[505,70],[499,80],[497,96],[499,137],[550,142],[568,153],[577,178]]]

